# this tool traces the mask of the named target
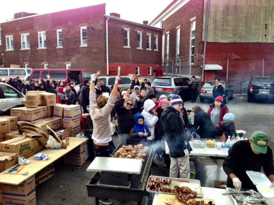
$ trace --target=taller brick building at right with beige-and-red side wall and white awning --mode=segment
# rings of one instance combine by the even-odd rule
[[[220,78],[246,93],[253,76],[274,74],[273,6],[274,0],[172,1],[149,23],[164,29],[163,72]]]

